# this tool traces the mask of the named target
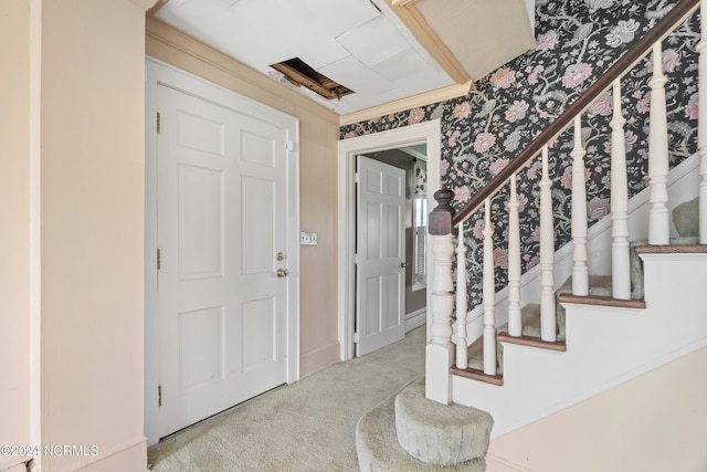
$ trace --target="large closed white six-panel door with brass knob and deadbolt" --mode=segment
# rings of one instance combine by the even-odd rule
[[[158,86],[159,434],[287,380],[286,133]]]

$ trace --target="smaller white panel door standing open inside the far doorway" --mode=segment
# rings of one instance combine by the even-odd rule
[[[405,336],[405,171],[357,157],[356,355]]]

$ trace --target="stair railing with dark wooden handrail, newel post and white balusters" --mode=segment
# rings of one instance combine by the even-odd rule
[[[520,237],[516,175],[539,154],[542,159],[540,187],[540,339],[556,343],[555,301],[555,230],[552,223],[551,186],[548,177],[549,144],[573,126],[574,147],[572,157],[572,293],[589,294],[587,266],[587,197],[584,181],[584,149],[581,141],[582,114],[609,90],[613,94],[611,133],[611,218],[612,218],[612,297],[631,297],[630,247],[627,225],[627,178],[624,140],[625,119],[621,109],[621,78],[646,55],[653,54],[651,86],[648,176],[651,210],[648,216],[648,243],[669,243],[669,211],[667,200],[667,114],[665,82],[662,67],[662,41],[679,27],[688,15],[700,8],[707,14],[707,0],[682,0],[654,28],[646,32],[602,76],[600,76],[577,101],[549,124],[508,166],[481,188],[476,195],[454,212],[451,203],[453,192],[443,187],[435,193],[437,207],[430,214],[429,231],[433,243],[434,270],[431,293],[432,338],[426,352],[426,397],[443,403],[451,401],[451,376],[449,368],[467,367],[466,336],[466,269],[463,223],[482,206],[484,207],[484,258],[483,258],[483,308],[484,308],[484,370],[483,375],[496,376],[496,321],[495,321],[495,272],[493,260],[493,229],[490,199],[509,183],[508,228],[508,334],[519,337],[523,333],[520,316]],[[704,17],[703,17],[704,18]],[[707,39],[700,39],[698,55],[698,154],[700,157],[699,182],[699,242],[707,243]],[[452,277],[453,231],[457,231],[456,279],[456,348],[452,343],[452,314],[454,312],[454,284]],[[455,354],[456,353],[456,354]]]

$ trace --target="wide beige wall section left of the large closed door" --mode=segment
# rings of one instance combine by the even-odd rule
[[[43,471],[146,469],[145,7],[42,1]]]

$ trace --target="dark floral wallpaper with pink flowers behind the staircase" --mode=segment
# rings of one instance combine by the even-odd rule
[[[476,81],[468,95],[381,116],[340,128],[340,138],[382,132],[423,120],[442,123],[441,179],[454,191],[455,206],[467,201],[497,175],[537,134],[567,108],[603,71],[677,0],[537,0],[536,50]],[[663,44],[671,166],[697,149],[698,13]],[[503,35],[499,35],[503,41]],[[622,81],[630,196],[643,189],[647,171],[647,129],[652,62],[642,61]],[[613,113],[611,92],[582,117],[587,149],[587,198],[590,224],[609,214],[610,153]],[[556,248],[571,238],[571,157],[573,132],[551,147]],[[524,271],[539,263],[540,160],[518,175]],[[507,281],[507,196],[492,202],[497,290]],[[483,221],[477,213],[465,223],[469,310],[482,302]],[[590,263],[591,271],[591,263]]]

